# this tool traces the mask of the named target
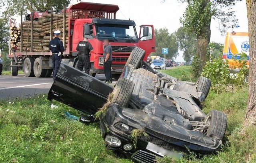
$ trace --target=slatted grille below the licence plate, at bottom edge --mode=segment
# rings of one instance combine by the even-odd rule
[[[156,155],[138,150],[132,155],[132,159],[139,163],[156,163]]]

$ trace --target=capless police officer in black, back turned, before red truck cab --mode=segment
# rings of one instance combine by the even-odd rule
[[[92,44],[88,42],[88,38],[84,38],[83,41],[79,42],[76,46],[76,51],[78,52],[78,70],[89,74],[91,64],[90,64],[90,52],[93,51]]]

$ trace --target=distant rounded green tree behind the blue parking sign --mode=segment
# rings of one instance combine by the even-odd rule
[[[158,56],[162,56],[162,48],[168,48],[167,59],[176,58],[178,55],[178,42],[174,33],[170,34],[167,28],[155,29],[156,52]]]

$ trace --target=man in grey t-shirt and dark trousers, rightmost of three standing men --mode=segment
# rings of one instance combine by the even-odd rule
[[[105,49],[103,53],[103,67],[104,74],[106,77],[105,83],[112,83],[112,74],[111,74],[111,66],[112,66],[112,47],[110,46],[108,39],[103,42]]]

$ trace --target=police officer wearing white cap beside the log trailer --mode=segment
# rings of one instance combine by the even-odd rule
[[[60,68],[60,62],[63,52],[65,51],[63,42],[60,41],[60,31],[54,32],[55,38],[50,40],[49,49],[52,52],[52,69],[53,69],[53,81],[56,79],[57,72]]]

